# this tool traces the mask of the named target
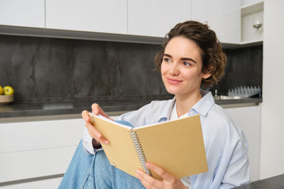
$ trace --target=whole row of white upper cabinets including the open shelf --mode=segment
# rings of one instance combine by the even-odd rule
[[[0,33],[160,43],[177,23],[188,20],[207,22],[225,44],[263,40],[263,0],[0,0],[0,27],[35,28],[6,27],[10,31]]]

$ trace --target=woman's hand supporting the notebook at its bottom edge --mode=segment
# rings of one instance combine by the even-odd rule
[[[170,175],[170,173],[163,170],[163,168],[160,168],[158,166],[155,166],[154,164],[147,163],[146,164],[148,169],[151,169],[151,171],[155,171],[159,176],[163,178],[163,181],[159,181],[152,176],[148,176],[148,174],[144,173],[140,169],[136,170],[136,176],[141,181],[143,186],[145,186],[147,189],[151,188],[187,188],[185,185],[183,185],[182,181],[180,179],[175,178],[175,176]],[[188,188],[187,188],[188,189]]]

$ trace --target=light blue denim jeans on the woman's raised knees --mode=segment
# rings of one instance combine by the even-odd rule
[[[144,188],[138,178],[109,164],[104,151],[86,154],[79,143],[58,189]]]

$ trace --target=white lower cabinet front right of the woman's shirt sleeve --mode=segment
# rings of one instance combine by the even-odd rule
[[[261,106],[241,108],[225,108],[231,118],[243,130],[249,143],[249,163],[251,166],[251,181],[259,180],[259,156],[261,134]]]

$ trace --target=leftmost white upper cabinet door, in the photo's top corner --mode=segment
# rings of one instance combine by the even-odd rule
[[[0,0],[0,25],[45,28],[45,1]]]

